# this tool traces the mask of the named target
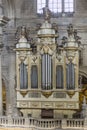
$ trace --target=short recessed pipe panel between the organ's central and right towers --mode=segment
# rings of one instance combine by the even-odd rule
[[[56,88],[63,88],[63,67],[61,65],[56,67]]]

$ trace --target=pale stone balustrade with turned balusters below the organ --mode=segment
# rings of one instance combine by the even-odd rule
[[[35,119],[24,117],[0,117],[0,127],[37,129],[84,128],[84,119]]]

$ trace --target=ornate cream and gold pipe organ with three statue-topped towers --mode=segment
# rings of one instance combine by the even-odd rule
[[[17,108],[23,116],[43,118],[50,111],[49,117],[72,117],[79,110],[79,37],[70,24],[60,46],[58,25],[51,24],[48,9],[44,14],[35,53],[24,26],[16,44]]]

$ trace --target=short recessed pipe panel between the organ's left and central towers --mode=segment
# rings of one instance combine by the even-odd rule
[[[38,69],[36,65],[31,67],[31,88],[38,88]]]

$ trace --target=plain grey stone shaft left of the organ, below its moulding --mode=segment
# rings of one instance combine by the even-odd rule
[[[17,115],[16,109],[16,90],[15,90],[15,52],[13,50],[9,50],[9,105],[10,111],[8,109],[8,115]],[[9,106],[8,106],[9,107]]]

